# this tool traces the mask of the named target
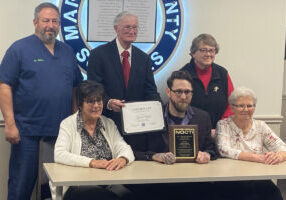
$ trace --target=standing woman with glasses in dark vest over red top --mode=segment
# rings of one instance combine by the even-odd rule
[[[215,129],[220,119],[232,115],[227,99],[233,84],[227,70],[214,63],[219,46],[213,36],[200,34],[190,50],[192,59],[181,70],[188,71],[194,80],[191,105],[207,111]]]

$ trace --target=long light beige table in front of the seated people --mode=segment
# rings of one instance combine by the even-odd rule
[[[57,199],[62,199],[63,186],[74,185],[286,179],[286,162],[279,165],[265,165],[231,159],[218,159],[208,164],[173,165],[135,161],[118,171],[44,163],[44,170],[56,186]]]

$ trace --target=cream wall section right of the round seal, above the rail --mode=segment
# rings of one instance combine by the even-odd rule
[[[221,47],[215,62],[227,68],[235,87],[247,86],[256,92],[258,105],[255,114],[280,116],[286,1],[187,2],[189,17],[184,19],[184,27],[188,30],[183,35],[181,51],[172,60],[173,69],[179,69],[189,61],[189,48],[195,36],[211,33]],[[166,78],[157,80],[161,92]]]

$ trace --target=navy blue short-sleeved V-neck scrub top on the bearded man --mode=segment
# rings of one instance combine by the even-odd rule
[[[20,135],[56,136],[60,122],[71,114],[72,89],[82,75],[71,47],[56,40],[52,55],[31,35],[7,50],[0,80],[12,87]]]

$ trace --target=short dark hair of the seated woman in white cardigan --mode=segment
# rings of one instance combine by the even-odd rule
[[[101,98],[104,100],[104,87],[102,84],[95,81],[86,80],[79,84],[77,88],[77,105],[82,107],[83,102],[86,98]]]

